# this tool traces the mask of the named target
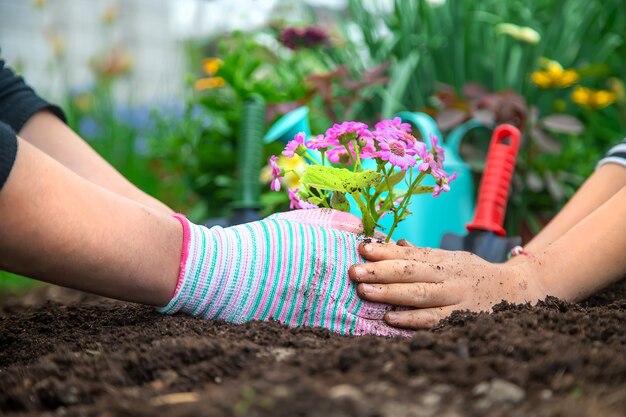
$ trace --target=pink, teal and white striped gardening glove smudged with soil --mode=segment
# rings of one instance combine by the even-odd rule
[[[183,225],[174,297],[163,313],[233,323],[277,320],[341,334],[411,335],[387,325],[384,304],[364,301],[348,278],[362,263],[360,220],[335,210],[298,210],[239,226]]]

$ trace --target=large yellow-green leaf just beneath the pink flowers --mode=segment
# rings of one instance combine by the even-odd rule
[[[345,168],[310,165],[302,176],[302,182],[321,190],[352,194],[378,185],[382,178],[382,174],[372,170],[352,172]]]

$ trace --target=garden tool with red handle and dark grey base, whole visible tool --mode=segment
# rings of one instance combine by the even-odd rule
[[[493,131],[474,220],[466,226],[469,233],[444,234],[442,249],[469,251],[489,262],[504,262],[510,250],[521,243],[517,236],[507,238],[502,227],[519,141],[520,132],[511,125]]]

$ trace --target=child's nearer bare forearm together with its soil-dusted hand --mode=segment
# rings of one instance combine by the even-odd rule
[[[622,168],[623,169],[623,168]],[[626,186],[562,236],[516,263],[467,252],[368,244],[350,277],[366,300],[414,307],[388,313],[394,326],[430,327],[454,310],[488,311],[546,295],[576,301],[626,276]]]

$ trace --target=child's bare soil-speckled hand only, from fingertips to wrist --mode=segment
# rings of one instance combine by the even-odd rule
[[[454,310],[490,311],[502,300],[536,302],[547,294],[532,262],[492,264],[469,252],[398,245],[361,244],[369,261],[353,265],[350,278],[361,298],[407,307],[388,312],[392,326],[428,328]]]

